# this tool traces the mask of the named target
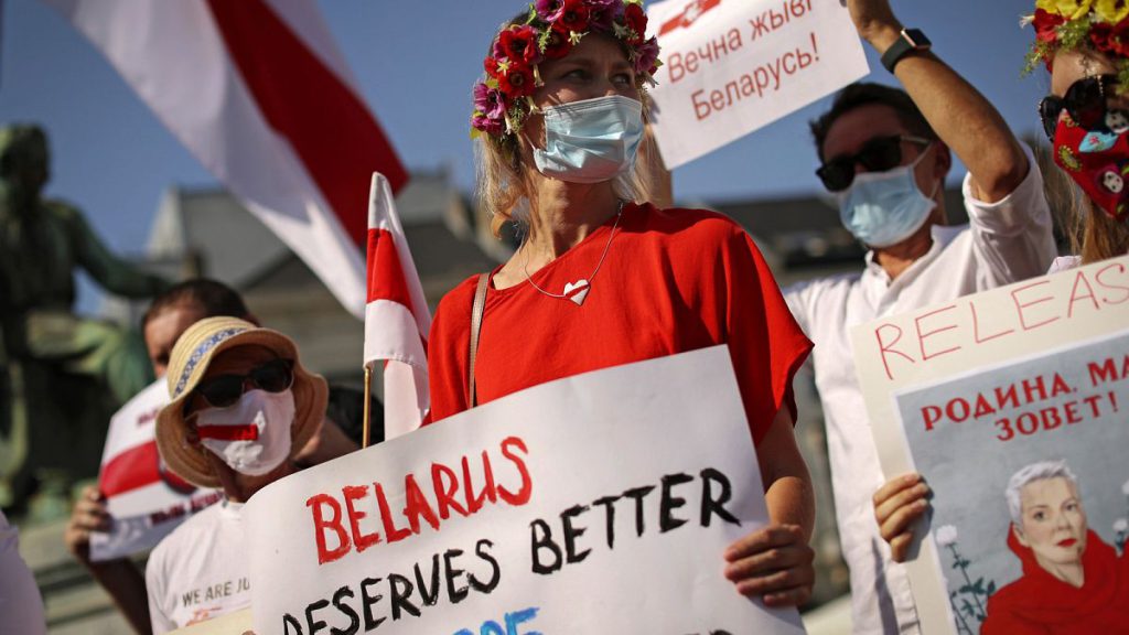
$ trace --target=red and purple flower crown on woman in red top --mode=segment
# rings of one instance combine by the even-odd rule
[[[612,35],[625,45],[640,88],[655,85],[658,40],[647,38],[642,0],[536,0],[525,21],[506,26],[487,56],[485,79],[474,85],[471,138],[487,133],[516,136],[525,118],[537,112],[533,92],[541,86],[544,60],[567,55],[589,33]],[[515,137],[516,138],[516,137]]]

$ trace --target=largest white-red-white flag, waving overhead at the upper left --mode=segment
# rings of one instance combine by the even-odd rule
[[[314,0],[43,0],[360,318],[365,185],[408,175]]]

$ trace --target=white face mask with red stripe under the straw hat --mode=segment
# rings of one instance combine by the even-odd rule
[[[196,416],[200,443],[233,470],[263,476],[290,456],[294,394],[251,390],[228,408],[209,408]]]

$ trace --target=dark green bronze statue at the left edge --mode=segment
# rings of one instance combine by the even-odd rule
[[[167,282],[116,258],[78,209],[41,197],[47,138],[0,129],[0,506],[35,480],[97,473],[110,415],[152,381],[135,331],[72,313],[76,268],[107,292],[150,297]]]

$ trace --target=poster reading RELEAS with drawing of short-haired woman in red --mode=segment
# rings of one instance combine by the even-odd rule
[[[1110,632],[1088,619],[1129,623],[1129,602],[1092,592],[1117,586],[1099,582],[1095,567],[1126,557],[1129,258],[878,320],[851,336],[883,470],[917,470],[934,493],[931,520],[918,528],[928,533],[908,567],[924,632],[980,633],[986,621],[996,633],[1018,632],[1025,625],[1009,620],[1019,614],[1049,632],[1065,628],[1023,606],[1035,598],[1080,628],[1071,633]],[[1074,482],[1026,479],[1058,461]],[[1053,536],[1039,533],[1036,512],[1038,522],[1058,523]],[[1068,566],[1084,563],[1091,591],[1048,575],[1039,564],[1050,562],[1048,549]]]

